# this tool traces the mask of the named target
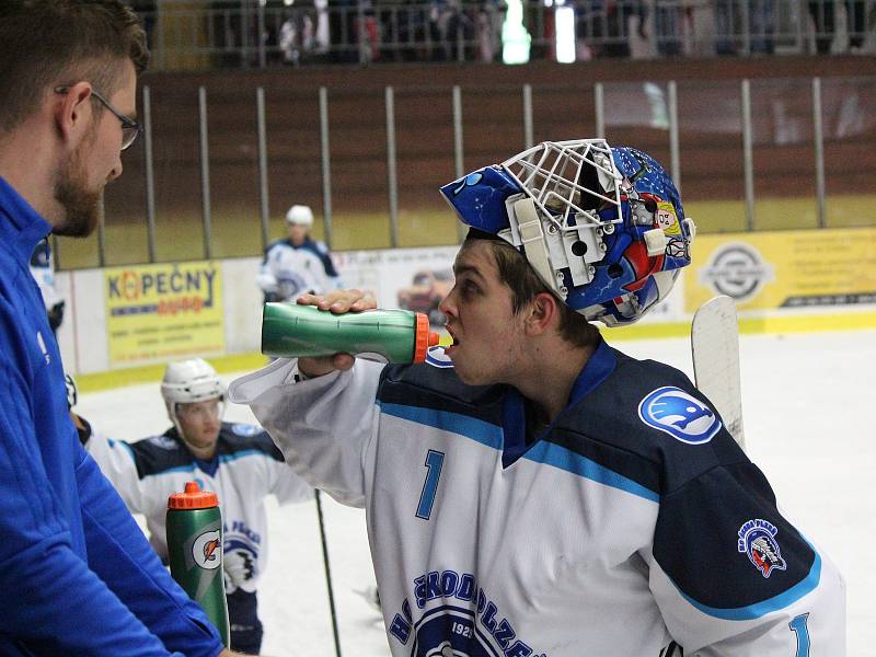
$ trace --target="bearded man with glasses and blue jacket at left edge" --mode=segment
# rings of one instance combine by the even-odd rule
[[[49,232],[93,231],[139,132],[131,115],[148,58],[122,0],[0,4],[2,655],[223,652],[80,445],[28,269]]]

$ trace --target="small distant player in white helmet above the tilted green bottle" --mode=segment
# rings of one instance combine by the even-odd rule
[[[286,212],[286,238],[265,250],[258,287],[265,302],[288,301],[310,292],[323,295],[341,287],[328,249],[310,237],[313,211],[293,205]]]

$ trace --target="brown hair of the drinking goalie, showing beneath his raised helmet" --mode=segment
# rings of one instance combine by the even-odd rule
[[[462,249],[473,240],[481,238],[468,237],[462,243]],[[499,280],[511,290],[511,310],[515,314],[523,310],[535,295],[548,292],[554,295],[544,283],[542,283],[535,269],[527,262],[527,258],[505,240],[484,240],[491,246],[493,260],[499,272]],[[562,300],[560,300],[560,335],[566,342],[577,347],[593,346],[599,342],[599,328],[588,322],[583,314],[575,312]]]

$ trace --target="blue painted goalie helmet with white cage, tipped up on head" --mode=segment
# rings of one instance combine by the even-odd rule
[[[569,308],[638,320],[691,263],[693,221],[669,174],[604,139],[545,141],[441,187],[463,223],[516,246]]]

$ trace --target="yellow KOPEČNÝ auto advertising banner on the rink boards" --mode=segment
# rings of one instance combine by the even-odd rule
[[[218,263],[107,268],[104,291],[111,367],[224,351]]]

